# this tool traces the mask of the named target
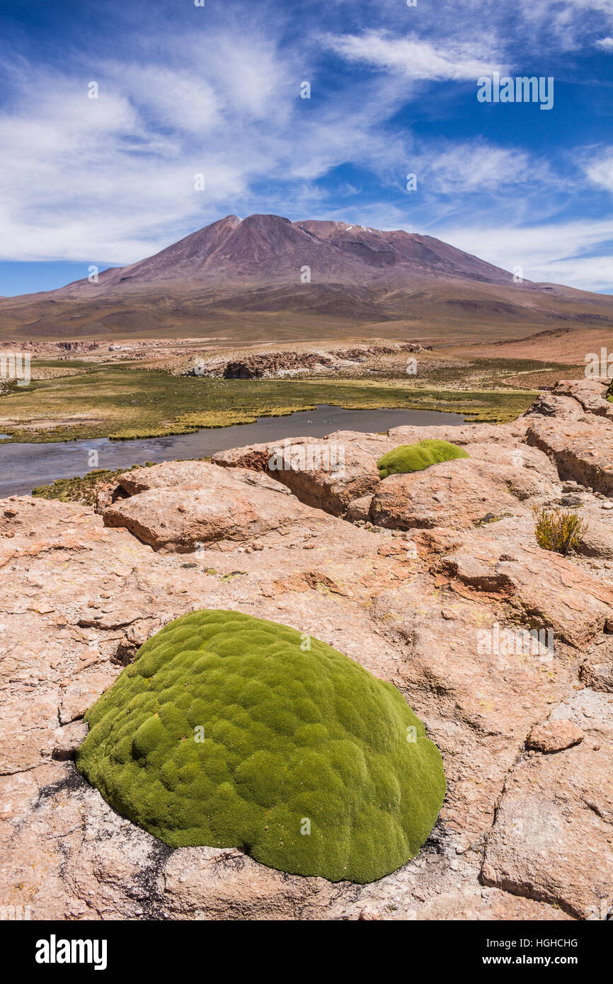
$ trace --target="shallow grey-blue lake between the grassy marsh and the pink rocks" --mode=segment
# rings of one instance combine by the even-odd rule
[[[0,498],[26,495],[57,478],[85,475],[96,468],[128,468],[146,461],[208,458],[216,451],[247,444],[280,441],[285,437],[325,437],[337,430],[387,431],[401,424],[461,424],[460,413],[438,410],[346,410],[323,403],[315,410],[298,410],[285,417],[259,417],[253,424],[203,429],[195,434],[145,438],[137,441],[58,441],[49,444],[0,445]],[[97,461],[92,455],[97,453]]]

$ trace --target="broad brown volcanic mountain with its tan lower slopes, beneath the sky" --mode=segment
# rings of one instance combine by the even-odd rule
[[[308,268],[310,280],[306,268]],[[613,298],[524,281],[432,236],[227,215],[97,283],[0,299],[5,338],[518,338],[613,327]]]

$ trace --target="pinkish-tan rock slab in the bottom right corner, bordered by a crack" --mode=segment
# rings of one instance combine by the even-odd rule
[[[580,705],[582,696],[575,701]],[[593,713],[593,700],[590,701]],[[605,918],[613,885],[611,705],[600,695],[598,736],[511,772],[487,838],[486,885],[559,905],[578,919]],[[598,749],[597,751],[595,749]]]

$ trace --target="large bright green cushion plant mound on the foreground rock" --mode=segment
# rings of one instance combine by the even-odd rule
[[[238,612],[171,622],[86,720],[77,768],[123,816],[171,847],[241,847],[292,874],[395,871],[445,796],[440,753],[396,687]]]

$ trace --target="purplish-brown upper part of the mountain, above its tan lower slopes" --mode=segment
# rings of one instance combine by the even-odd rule
[[[305,271],[310,280],[301,280]],[[129,267],[105,271],[100,292],[148,284],[193,289],[215,284],[317,282],[365,286],[469,279],[509,284],[511,274],[431,236],[327,219],[225,215]],[[92,285],[87,284],[92,292]],[[80,284],[64,288],[74,292]]]

